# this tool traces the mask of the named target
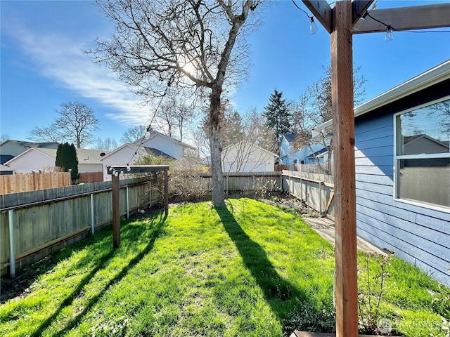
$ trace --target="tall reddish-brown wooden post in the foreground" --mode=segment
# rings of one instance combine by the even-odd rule
[[[352,1],[337,1],[331,33],[335,181],[336,336],[358,336]]]

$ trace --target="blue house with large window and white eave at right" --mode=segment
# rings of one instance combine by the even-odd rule
[[[359,236],[449,286],[450,60],[354,116]]]

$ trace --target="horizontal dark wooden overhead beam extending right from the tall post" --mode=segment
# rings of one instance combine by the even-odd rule
[[[373,18],[390,25],[394,31],[450,27],[450,4],[376,9],[368,13]],[[353,34],[386,32],[386,26],[373,20],[369,15]]]

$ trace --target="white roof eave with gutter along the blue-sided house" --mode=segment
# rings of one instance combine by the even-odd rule
[[[425,88],[438,84],[439,82],[450,79],[450,60],[442,62],[440,65],[423,72],[422,74],[409,79],[408,81],[395,86],[394,88],[382,93],[381,95],[368,100],[354,108],[354,117],[359,117],[363,114],[371,112],[379,107],[383,107],[396,100],[406,96],[422,91]],[[313,130],[313,137],[318,136],[322,130],[327,130],[333,126],[333,121],[330,119]]]

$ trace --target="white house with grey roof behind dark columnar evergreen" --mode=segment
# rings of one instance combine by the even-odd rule
[[[103,150],[77,149],[78,172],[101,172],[103,164],[101,157],[105,156]],[[54,171],[56,149],[31,147],[5,164],[18,173],[32,171]]]

